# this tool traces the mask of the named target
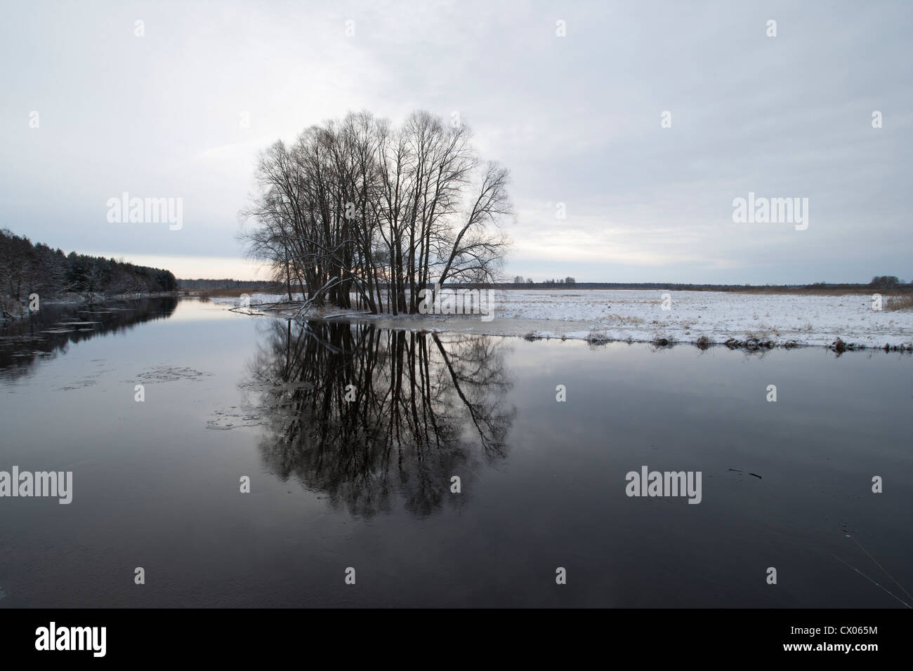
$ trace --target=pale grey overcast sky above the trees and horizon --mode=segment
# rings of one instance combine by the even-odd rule
[[[421,108],[458,112],[509,167],[510,277],[913,279],[911,19],[908,2],[10,0],[0,227],[263,277],[235,237],[258,150]],[[182,198],[183,226],[110,223],[123,192]],[[734,223],[750,192],[808,198],[807,229]]]

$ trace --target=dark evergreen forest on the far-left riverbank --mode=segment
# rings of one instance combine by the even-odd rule
[[[105,295],[176,289],[177,280],[168,270],[76,252],[64,254],[0,230],[0,309],[9,313],[21,314],[32,294],[41,300],[76,294],[91,301]]]

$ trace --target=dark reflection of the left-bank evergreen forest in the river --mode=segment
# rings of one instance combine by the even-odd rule
[[[21,320],[0,325],[0,371],[19,377],[31,371],[39,358],[67,351],[70,343],[103,333],[119,333],[144,321],[167,319],[177,299],[161,297],[110,301],[87,306],[42,303],[41,309]]]

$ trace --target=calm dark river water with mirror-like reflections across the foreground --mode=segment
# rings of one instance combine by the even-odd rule
[[[0,332],[0,470],[73,500],[0,498],[0,607],[910,602],[908,356],[42,312]]]

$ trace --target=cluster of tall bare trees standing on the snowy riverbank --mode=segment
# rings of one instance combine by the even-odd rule
[[[350,113],[261,154],[242,238],[289,299],[412,313],[421,288],[497,278],[508,177],[478,158],[466,126]]]

